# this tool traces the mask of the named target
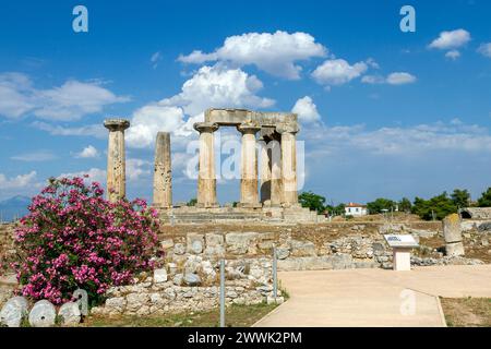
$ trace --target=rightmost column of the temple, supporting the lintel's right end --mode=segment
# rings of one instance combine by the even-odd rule
[[[283,202],[286,207],[298,204],[297,193],[297,125],[280,125],[282,134],[282,185]]]

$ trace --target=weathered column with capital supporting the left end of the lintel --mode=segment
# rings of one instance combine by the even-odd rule
[[[200,132],[200,163],[197,174],[197,207],[216,207],[215,145],[213,133],[216,123],[196,122],[194,130]]]

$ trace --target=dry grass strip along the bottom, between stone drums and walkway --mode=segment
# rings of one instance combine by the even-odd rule
[[[227,306],[225,321],[228,327],[249,327],[264,317],[276,304]],[[152,316],[89,316],[82,324],[88,327],[218,327],[219,310]]]

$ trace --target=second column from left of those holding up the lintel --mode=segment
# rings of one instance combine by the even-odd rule
[[[255,133],[261,127],[243,123],[237,127],[242,133],[240,206],[261,207],[258,195],[258,153],[255,149]]]

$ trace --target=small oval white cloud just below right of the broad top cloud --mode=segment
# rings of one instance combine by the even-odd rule
[[[361,76],[367,69],[368,65],[366,62],[358,62],[350,65],[344,59],[332,59],[319,65],[312,72],[312,77],[320,84],[343,85]]]

